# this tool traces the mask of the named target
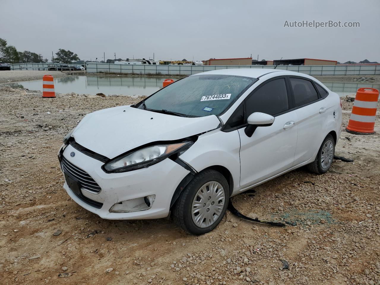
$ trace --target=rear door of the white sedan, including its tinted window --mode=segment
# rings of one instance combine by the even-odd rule
[[[309,160],[319,149],[326,130],[326,101],[312,80],[289,76],[293,106],[298,117],[298,141],[294,165]]]

